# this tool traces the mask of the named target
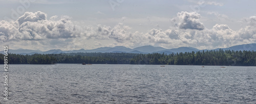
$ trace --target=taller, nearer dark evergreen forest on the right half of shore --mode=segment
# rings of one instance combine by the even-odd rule
[[[176,54],[141,54],[131,64],[256,66],[255,51],[207,50]]]

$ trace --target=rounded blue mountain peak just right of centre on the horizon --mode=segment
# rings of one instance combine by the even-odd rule
[[[142,53],[153,53],[155,51],[165,50],[165,48],[154,47],[152,45],[145,45],[145,46],[136,47],[133,50],[138,50],[138,51],[141,51]]]

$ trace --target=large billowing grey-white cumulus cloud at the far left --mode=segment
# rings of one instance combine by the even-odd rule
[[[25,12],[16,21],[0,22],[0,31],[9,40],[43,40],[54,38],[72,38],[80,36],[80,29],[69,20],[70,17],[62,16],[57,19],[53,16],[47,19],[43,12]]]

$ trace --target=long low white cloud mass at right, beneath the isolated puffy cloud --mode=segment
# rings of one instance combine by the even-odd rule
[[[140,34],[143,41],[148,43],[160,44],[165,47],[192,46],[203,49],[213,49],[239,45],[241,43],[256,42],[256,29],[248,25],[239,31],[233,31],[227,24],[216,24],[212,29],[181,30],[179,28],[152,29],[145,34]]]

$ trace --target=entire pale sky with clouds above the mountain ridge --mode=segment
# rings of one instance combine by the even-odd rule
[[[75,50],[256,43],[256,0],[0,0],[0,44]]]

